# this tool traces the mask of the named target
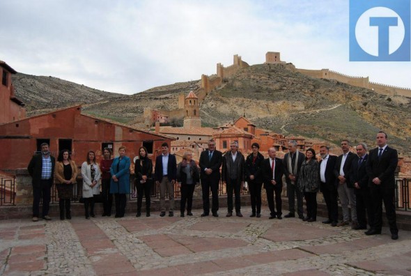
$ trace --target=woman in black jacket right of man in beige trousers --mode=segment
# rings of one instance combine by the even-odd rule
[[[185,203],[187,202],[187,215],[192,214],[193,194],[196,184],[200,182],[200,171],[196,162],[192,160],[193,154],[186,151],[183,161],[177,167],[178,187],[181,191],[180,217],[184,217]]]

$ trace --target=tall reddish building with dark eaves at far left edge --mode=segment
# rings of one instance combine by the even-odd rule
[[[15,97],[11,83],[11,75],[16,73],[7,63],[0,61],[0,123],[16,121],[26,116],[24,103]]]

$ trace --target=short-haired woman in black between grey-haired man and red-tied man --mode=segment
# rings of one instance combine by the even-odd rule
[[[264,156],[258,152],[260,145],[253,143],[253,151],[245,160],[245,176],[251,196],[251,215],[250,217],[261,217],[261,187],[263,187],[263,176],[261,175],[261,164]]]

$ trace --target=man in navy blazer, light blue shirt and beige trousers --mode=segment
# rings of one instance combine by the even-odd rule
[[[169,145],[163,143],[162,155],[155,158],[155,183],[160,185],[160,217],[166,215],[166,191],[169,193],[169,217],[174,215],[174,183],[177,180],[176,156],[169,154]]]

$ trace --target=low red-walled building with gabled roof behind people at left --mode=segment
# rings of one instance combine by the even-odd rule
[[[112,148],[114,155],[118,155],[118,148],[126,146],[127,155],[133,160],[139,147],[146,146],[155,160],[155,156],[161,154],[161,144],[170,145],[172,140],[173,137],[82,114],[81,106],[68,107],[0,124],[0,170],[27,167],[43,142],[50,145],[54,156],[68,149],[80,165],[90,150],[95,151],[99,160],[104,147]]]

